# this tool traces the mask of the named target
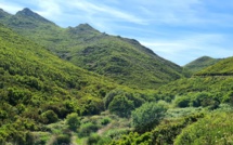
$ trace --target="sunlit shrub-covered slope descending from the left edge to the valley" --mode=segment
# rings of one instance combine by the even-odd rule
[[[70,113],[99,114],[105,93],[117,87],[1,24],[0,80],[0,144],[31,144],[29,131],[44,131]]]

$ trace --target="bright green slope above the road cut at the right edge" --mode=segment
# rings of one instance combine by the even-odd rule
[[[203,69],[196,76],[233,76],[233,57],[220,61],[219,63]]]

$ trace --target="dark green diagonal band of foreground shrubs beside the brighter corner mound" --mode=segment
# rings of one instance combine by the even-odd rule
[[[111,145],[166,145],[173,144],[173,140],[181,131],[198,121],[204,114],[191,115],[176,120],[164,120],[159,126],[150,132],[140,134],[131,132],[119,140],[112,141]]]

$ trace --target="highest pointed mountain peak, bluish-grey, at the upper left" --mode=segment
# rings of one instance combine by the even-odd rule
[[[34,19],[37,19],[40,22],[52,23],[52,22],[46,19],[44,17],[40,16],[38,13],[35,13],[34,11],[31,11],[28,8],[25,8],[22,11],[18,11],[16,13],[16,16],[29,17],[29,18],[34,18]]]

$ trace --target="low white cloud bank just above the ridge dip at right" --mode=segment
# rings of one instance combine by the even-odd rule
[[[158,55],[180,65],[185,65],[203,55],[219,58],[233,55],[231,39],[218,34],[197,34],[166,41],[163,39],[142,39],[141,43],[151,48]]]

